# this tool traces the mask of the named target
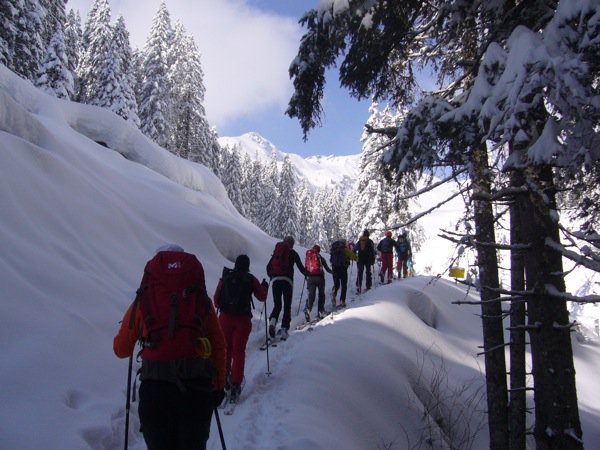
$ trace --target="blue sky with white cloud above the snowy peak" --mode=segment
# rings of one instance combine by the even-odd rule
[[[123,15],[133,47],[141,48],[161,0],[109,0],[114,22]],[[69,0],[83,24],[92,0]],[[165,0],[173,23],[194,36],[201,54],[209,122],[221,136],[256,131],[284,152],[350,155],[361,151],[368,101],[339,87],[330,71],[323,99],[322,126],[303,141],[296,119],[285,115],[293,92],[288,68],[303,30],[299,18],[319,0]]]

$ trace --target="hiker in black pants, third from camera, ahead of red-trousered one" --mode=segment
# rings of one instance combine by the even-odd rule
[[[300,256],[294,250],[294,238],[286,236],[275,245],[273,255],[267,264],[267,275],[271,278],[273,290],[273,310],[269,316],[269,335],[275,337],[275,327],[279,320],[283,298],[283,317],[281,319],[280,337],[286,340],[292,320],[292,295],[294,294],[294,264],[302,275],[308,276]]]

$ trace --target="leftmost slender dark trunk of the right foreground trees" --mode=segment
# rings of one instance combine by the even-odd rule
[[[491,191],[488,155],[485,144],[473,149],[473,164],[470,170],[474,201],[476,239],[478,242],[496,242],[494,212],[488,200],[480,200]],[[477,246],[479,280],[481,285],[481,320],[483,325],[483,348],[487,388],[488,428],[490,449],[508,448],[508,395],[506,382],[506,360],[504,357],[504,327],[502,305],[488,301],[497,297],[498,258],[492,246]]]

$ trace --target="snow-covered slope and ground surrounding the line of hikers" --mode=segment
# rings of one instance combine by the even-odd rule
[[[178,243],[198,255],[213,292],[240,253],[265,276],[274,240],[237,214],[204,167],[2,66],[0,184],[0,448],[122,448],[127,361],[114,356],[112,339],[145,262]],[[303,288],[297,279],[294,326]],[[350,295],[347,310],[272,349],[270,376],[257,350],[265,317],[257,305],[242,403],[221,416],[228,448],[402,449],[425,438],[448,448],[440,417],[424,413],[440,399],[443,419],[465,412],[455,429],[470,430],[471,448],[486,448],[477,308],[451,303],[467,297],[476,299],[429,277]],[[584,440],[599,448],[599,347],[574,345]],[[143,449],[136,407],[129,442]],[[214,422],[208,448],[221,448]]]

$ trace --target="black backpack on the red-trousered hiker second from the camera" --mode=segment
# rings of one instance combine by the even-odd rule
[[[252,316],[252,275],[223,267],[219,309],[236,316]]]

